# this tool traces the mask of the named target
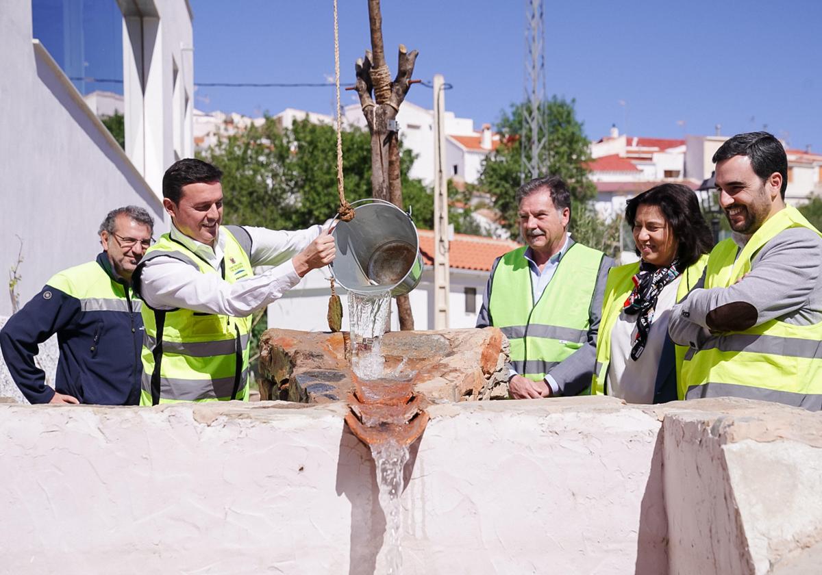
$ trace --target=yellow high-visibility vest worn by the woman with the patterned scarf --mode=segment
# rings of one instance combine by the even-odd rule
[[[708,263],[708,256],[703,255],[694,265],[686,268],[681,275],[679,286],[677,286],[677,301],[682,301],[691,289],[699,283],[702,272]],[[603,298],[603,315],[599,322],[599,335],[597,338],[597,365],[593,371],[593,382],[591,383],[592,395],[607,395],[607,373],[608,365],[611,363],[611,332],[617,319],[625,306],[625,301],[634,290],[633,278],[640,271],[640,262],[621,265],[612,268],[608,272],[608,281],[605,283],[605,297]],[[682,361],[688,350],[685,346],[676,346],[677,357],[677,382],[681,378]],[[679,385],[677,383],[677,390]],[[681,398],[680,398],[681,399]]]

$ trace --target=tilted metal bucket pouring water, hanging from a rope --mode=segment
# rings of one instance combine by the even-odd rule
[[[419,237],[410,214],[385,200],[351,202],[354,219],[338,220],[331,235],[337,256],[331,274],[349,292],[376,294],[390,290],[403,296],[423,276]]]

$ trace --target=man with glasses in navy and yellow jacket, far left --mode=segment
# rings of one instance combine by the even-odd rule
[[[31,403],[140,402],[141,301],[132,273],[153,243],[154,219],[135,205],[113,209],[100,224],[96,260],[65,269],[0,331],[0,349]],[[58,334],[55,389],[35,364],[38,345]]]

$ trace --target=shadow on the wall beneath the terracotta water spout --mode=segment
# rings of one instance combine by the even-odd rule
[[[422,439],[420,436],[409,447],[409,460],[403,468],[403,490],[411,480]],[[345,425],[339,439],[337,462],[337,495],[345,495],[351,504],[349,575],[372,575],[376,573],[376,558],[386,533],[386,515],[380,507],[371,450]]]

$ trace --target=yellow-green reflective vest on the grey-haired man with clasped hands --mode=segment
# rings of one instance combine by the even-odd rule
[[[514,369],[538,381],[587,341],[591,300],[604,254],[579,243],[570,246],[534,303],[525,250],[509,251],[496,265],[488,310],[494,326],[510,342]]]

